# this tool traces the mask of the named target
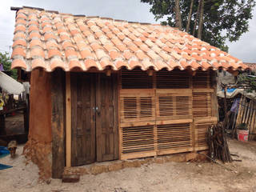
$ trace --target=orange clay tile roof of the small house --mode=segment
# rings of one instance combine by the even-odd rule
[[[11,10],[17,10],[12,68],[250,68],[238,58],[170,26],[61,14],[36,7]]]

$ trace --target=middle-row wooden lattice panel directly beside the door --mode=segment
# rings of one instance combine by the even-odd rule
[[[154,90],[121,90],[121,124],[130,125],[140,122],[147,125],[155,120],[155,98]]]

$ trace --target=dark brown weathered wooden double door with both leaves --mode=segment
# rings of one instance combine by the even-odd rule
[[[71,73],[72,166],[118,159],[117,75]]]

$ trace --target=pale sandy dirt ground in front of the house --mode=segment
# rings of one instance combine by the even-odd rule
[[[14,166],[0,170],[0,191],[256,191],[256,142],[230,140],[229,145],[230,152],[242,159],[224,165],[233,172],[211,162],[166,162],[88,174],[78,183],[52,179],[50,184],[38,182],[38,167],[25,164],[23,146],[19,146],[17,158],[0,158],[0,163]]]

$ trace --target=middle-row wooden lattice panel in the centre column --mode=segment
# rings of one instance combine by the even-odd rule
[[[192,118],[192,90],[158,89],[157,120]]]

